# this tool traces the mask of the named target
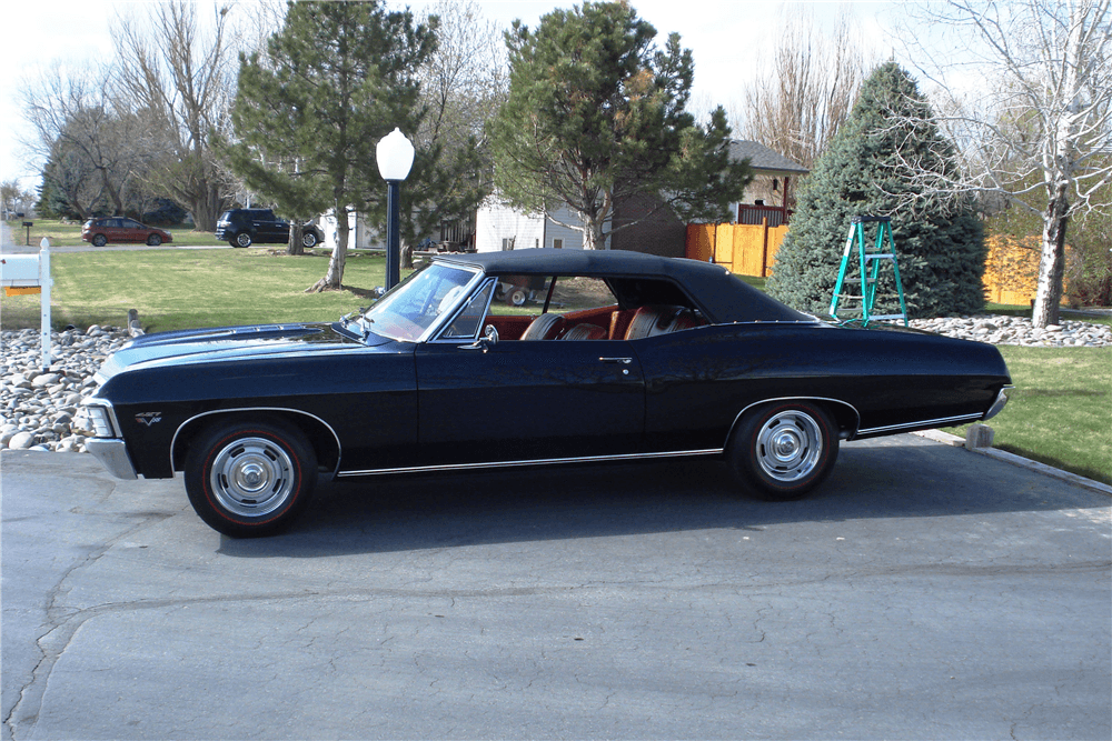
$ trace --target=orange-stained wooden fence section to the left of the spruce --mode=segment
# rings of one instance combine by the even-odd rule
[[[739,276],[766,278],[776,261],[776,250],[784,241],[787,224],[693,223],[687,224],[685,257],[716,264]]]

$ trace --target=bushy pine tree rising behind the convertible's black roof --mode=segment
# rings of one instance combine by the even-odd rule
[[[684,220],[722,218],[752,179],[729,160],[725,111],[702,127],[686,110],[691,51],[677,33],[663,49],[655,39],[627,2],[554,10],[506,34],[509,97],[488,124],[495,184],[526,211],[568,207],[586,249],[603,248],[616,202],[649,196]]]

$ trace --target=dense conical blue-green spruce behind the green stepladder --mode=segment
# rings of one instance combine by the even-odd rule
[[[892,217],[909,317],[965,314],[984,306],[984,231],[973,204],[901,180],[901,157],[940,172],[957,167],[954,147],[939,131],[915,81],[886,62],[862,86],[848,120],[800,189],[768,281],[772,296],[826,317],[851,219],[871,214]],[[870,243],[873,234],[866,230]],[[873,310],[898,312],[892,271],[882,266],[881,274]],[[847,284],[851,291],[860,287],[860,272],[847,273]]]

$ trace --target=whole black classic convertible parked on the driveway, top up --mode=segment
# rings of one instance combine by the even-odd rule
[[[183,471],[237,537],[287,525],[320,475],[725,457],[793,499],[840,440],[989,419],[1010,388],[989,344],[834,326],[713,264],[550,249],[438,257],[334,323],[140,337],[98,381],[88,449],[120,478]]]

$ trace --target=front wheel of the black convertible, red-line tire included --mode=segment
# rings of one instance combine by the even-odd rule
[[[214,530],[269,535],[309,503],[317,457],[299,430],[282,423],[219,424],[190,447],[185,480],[189,503]]]

